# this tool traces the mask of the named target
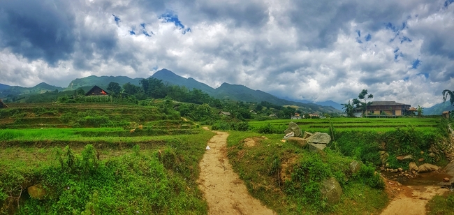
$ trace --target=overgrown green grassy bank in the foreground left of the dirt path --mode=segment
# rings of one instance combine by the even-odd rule
[[[0,149],[2,158],[11,156],[0,161],[0,212],[206,214],[207,204],[196,179],[198,161],[213,135],[200,131],[195,135],[156,136],[149,144],[134,144],[142,138],[150,139],[136,137],[128,139],[131,144],[122,148],[98,149],[97,144],[4,147]],[[63,144],[65,140],[59,141]],[[158,140],[159,144],[154,144]],[[51,193],[48,200],[29,198],[27,192],[21,195],[21,189],[34,184],[43,184]]]

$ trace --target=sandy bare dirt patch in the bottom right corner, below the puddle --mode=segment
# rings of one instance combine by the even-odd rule
[[[425,205],[427,205],[427,202],[435,195],[442,195],[448,191],[448,189],[439,186],[407,186],[403,189],[404,192],[394,198],[381,215],[426,214]]]

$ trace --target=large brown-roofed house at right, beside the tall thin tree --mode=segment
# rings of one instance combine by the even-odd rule
[[[404,103],[397,103],[395,101],[373,101],[371,105],[367,105],[367,113],[374,115],[391,115],[391,116],[403,116],[406,111],[410,109],[411,105]],[[356,109],[356,112],[362,110]]]

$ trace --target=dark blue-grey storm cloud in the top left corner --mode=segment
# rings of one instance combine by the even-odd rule
[[[1,1],[0,48],[55,65],[74,51],[75,15],[66,1]]]

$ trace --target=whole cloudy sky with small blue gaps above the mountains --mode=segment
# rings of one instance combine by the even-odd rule
[[[454,90],[454,0],[2,0],[0,83],[162,68],[211,87],[430,107]]]

